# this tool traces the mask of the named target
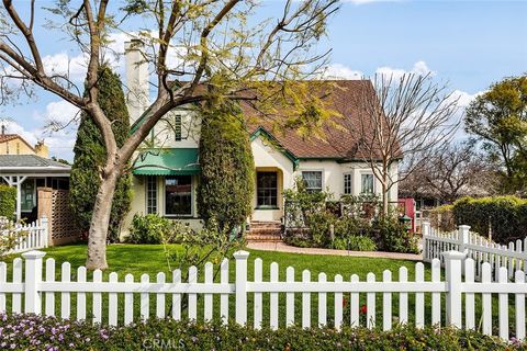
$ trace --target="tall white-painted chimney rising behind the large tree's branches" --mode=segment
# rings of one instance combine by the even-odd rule
[[[130,122],[134,123],[148,107],[148,63],[144,55],[144,43],[132,39],[124,43],[124,57],[126,63],[126,105]]]

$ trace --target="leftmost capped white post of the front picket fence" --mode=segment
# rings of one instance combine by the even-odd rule
[[[42,258],[44,256],[46,252],[35,250],[22,253],[25,260],[24,310],[26,314],[41,314],[42,299],[38,288],[42,282]]]

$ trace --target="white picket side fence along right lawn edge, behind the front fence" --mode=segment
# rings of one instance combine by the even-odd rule
[[[464,252],[467,258],[472,258],[475,262],[476,280],[481,280],[484,262],[491,264],[495,281],[498,280],[497,272],[501,267],[507,269],[509,280],[518,270],[527,272],[527,238],[524,241],[500,245],[470,231],[470,226],[459,226],[458,230],[440,233],[431,228],[429,223],[423,223],[423,240],[424,261],[441,259],[441,253],[449,250]]]

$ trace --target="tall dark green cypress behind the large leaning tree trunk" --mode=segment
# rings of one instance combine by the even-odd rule
[[[99,104],[112,121],[112,131],[117,147],[121,147],[130,131],[130,116],[124,101],[121,80],[110,68],[100,69]],[[69,202],[80,228],[88,230],[100,181],[100,169],[104,166],[106,150],[96,123],[85,113],[81,115],[75,159],[71,167]],[[125,170],[115,186],[115,195],[110,215],[109,239],[119,240],[122,220],[130,210],[132,178]]]

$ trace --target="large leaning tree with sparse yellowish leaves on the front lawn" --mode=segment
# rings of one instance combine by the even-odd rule
[[[314,52],[314,44],[337,10],[336,1],[288,0],[280,16],[248,25],[256,11],[253,1],[134,0],[119,9],[122,2],[110,0],[57,0],[47,9],[52,20],[46,30],[68,34],[85,54],[87,73],[79,88],[68,75],[51,72],[44,65],[34,32],[35,18],[44,10],[36,9],[34,0],[22,2],[18,5],[29,8],[27,19],[23,19],[12,0],[2,0],[2,77],[18,80],[21,89],[31,82],[68,101],[85,111],[103,136],[106,161],[100,170],[101,185],[89,230],[89,269],[108,267],[105,239],[116,180],[156,123],[175,107],[200,105],[211,97],[250,101],[269,114],[288,109],[289,115],[298,114],[306,100],[299,94],[307,89],[290,82],[305,79],[325,65],[328,52]],[[142,21],[134,22],[137,15]],[[137,24],[145,22],[148,30]],[[119,148],[110,120],[98,103],[98,71],[109,53],[109,34],[125,29],[148,47],[144,59],[155,77],[155,97],[141,116],[143,124]],[[12,94],[3,78],[2,98],[5,92]],[[264,83],[268,81],[276,83]],[[316,99],[310,100],[316,103]]]

